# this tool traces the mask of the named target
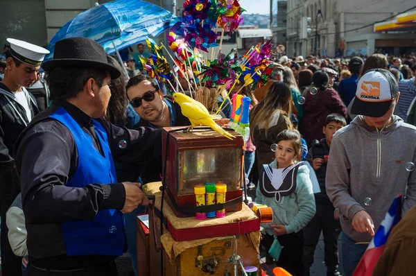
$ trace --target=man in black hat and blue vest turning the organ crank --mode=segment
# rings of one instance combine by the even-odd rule
[[[160,158],[161,131],[128,130],[101,119],[110,81],[121,72],[96,42],[60,40],[42,68],[53,103],[15,146],[28,232],[25,275],[117,275],[123,213],[148,200],[138,183],[117,182],[113,159]]]

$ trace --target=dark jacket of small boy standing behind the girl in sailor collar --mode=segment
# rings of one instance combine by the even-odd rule
[[[315,140],[318,142],[317,140]],[[312,147],[306,155],[306,161],[312,166],[312,160],[315,158],[324,159],[325,155],[329,155],[329,146],[327,139],[321,139],[318,143],[313,143]],[[325,177],[327,176],[327,162],[322,162],[322,166],[315,170],[316,178],[318,178],[320,193],[315,193],[315,201],[324,205],[332,205],[329,197],[327,196],[327,190],[325,188]]]

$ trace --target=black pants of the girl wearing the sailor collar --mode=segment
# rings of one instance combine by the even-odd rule
[[[266,234],[263,236],[264,245],[269,250],[274,236]],[[304,268],[302,265],[302,250],[304,245],[304,235],[302,230],[297,233],[291,233],[283,236],[277,236],[280,245],[283,247],[280,253],[279,260],[276,261],[276,266],[284,268],[293,276],[303,276]]]

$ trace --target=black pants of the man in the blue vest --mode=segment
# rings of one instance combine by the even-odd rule
[[[116,262],[112,261],[106,266],[98,266],[76,270],[46,270],[28,264],[24,276],[118,276]]]

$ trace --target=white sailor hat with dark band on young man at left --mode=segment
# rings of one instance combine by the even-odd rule
[[[14,38],[8,38],[7,41],[10,43],[10,55],[29,65],[40,66],[45,55],[49,53],[40,46]]]

